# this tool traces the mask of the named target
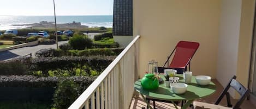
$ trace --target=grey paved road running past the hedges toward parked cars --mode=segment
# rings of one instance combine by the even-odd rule
[[[97,34],[99,34],[99,33],[89,33],[88,37],[93,39],[94,35],[97,35]],[[58,42],[59,45],[61,45],[63,43],[68,43],[68,41]],[[56,47],[57,47],[56,44],[50,44],[50,45],[39,44],[38,46],[23,47],[23,48],[8,50],[8,51],[5,51],[5,52],[0,52],[0,61],[9,60],[9,59],[12,59],[14,57],[24,56],[24,55],[27,55],[27,54],[30,54],[30,53],[32,53],[32,57],[35,57],[35,52],[37,52],[40,49],[56,48]]]

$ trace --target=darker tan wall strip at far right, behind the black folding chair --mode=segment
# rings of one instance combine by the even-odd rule
[[[253,35],[255,0],[242,1],[239,52],[237,57],[237,80],[247,87]],[[236,98],[238,94],[236,94]]]

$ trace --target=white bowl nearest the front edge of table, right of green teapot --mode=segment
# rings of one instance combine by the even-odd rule
[[[187,91],[187,84],[183,84],[181,82],[175,83],[171,85],[171,89],[176,94],[183,94]]]

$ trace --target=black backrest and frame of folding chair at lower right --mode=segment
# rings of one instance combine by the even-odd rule
[[[229,84],[225,87],[225,89],[223,90],[222,94],[219,96],[218,100],[215,102],[216,105],[219,104],[219,102],[221,102],[222,98],[224,97],[224,95],[227,96],[227,102],[228,102],[228,107],[232,107],[231,102],[230,102],[230,95],[228,93],[228,89],[230,88],[230,86],[232,88],[235,89],[235,91],[237,91],[240,94],[240,99],[236,102],[236,104],[234,105],[234,109],[238,109],[241,105],[243,100],[246,99],[246,97],[249,94],[249,89],[245,88],[242,84],[240,84],[240,82],[236,81],[236,76],[234,75],[233,78],[231,78]]]

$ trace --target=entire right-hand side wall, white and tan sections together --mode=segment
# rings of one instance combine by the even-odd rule
[[[248,86],[254,0],[222,0],[217,79],[225,87],[233,75]],[[239,94],[230,91],[234,98]]]

